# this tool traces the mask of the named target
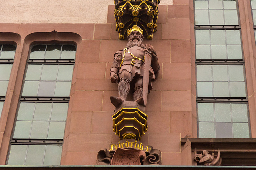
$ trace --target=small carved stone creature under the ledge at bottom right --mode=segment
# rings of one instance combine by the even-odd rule
[[[215,158],[214,153],[211,155],[207,150],[203,150],[202,153],[196,154],[194,156],[194,160],[197,162],[197,165],[220,166],[220,151],[218,151],[217,158]]]

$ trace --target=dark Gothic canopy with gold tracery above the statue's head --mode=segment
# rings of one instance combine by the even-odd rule
[[[159,3],[160,0],[114,0],[119,39],[123,40],[133,25],[138,25],[144,31],[144,36],[152,39],[157,31]]]

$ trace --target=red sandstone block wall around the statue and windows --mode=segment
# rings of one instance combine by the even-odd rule
[[[256,46],[249,0],[238,0],[251,137],[256,137]],[[16,44],[7,95],[0,119],[0,164],[5,165],[30,46],[38,43],[77,45],[61,165],[96,165],[96,156],[119,138],[113,133],[110,82],[114,53],[126,45],[115,31],[114,5],[106,24],[0,24],[0,43]],[[159,6],[158,31],[144,40],[157,51],[160,75],[148,95],[148,131],[141,142],[162,153],[162,165],[192,165],[191,146],[181,138],[197,138],[196,69],[193,0]],[[91,71],[93,70],[93,72]],[[189,154],[190,152],[190,154]]]

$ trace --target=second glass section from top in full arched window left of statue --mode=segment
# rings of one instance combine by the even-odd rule
[[[29,64],[22,96],[69,96],[73,67]]]

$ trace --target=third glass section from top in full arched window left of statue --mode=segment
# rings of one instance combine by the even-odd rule
[[[13,138],[62,139],[68,103],[21,102]]]

